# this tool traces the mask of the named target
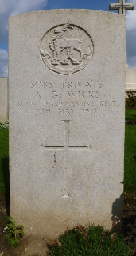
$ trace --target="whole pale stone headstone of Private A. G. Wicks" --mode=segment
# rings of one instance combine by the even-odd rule
[[[26,234],[122,218],[126,17],[10,18],[10,214]]]

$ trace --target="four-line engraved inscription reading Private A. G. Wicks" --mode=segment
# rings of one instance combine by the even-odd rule
[[[69,118],[77,113],[93,116],[99,114],[100,107],[119,106],[114,98],[103,98],[105,85],[101,79],[87,78],[79,81],[66,78],[59,82],[43,79],[30,82],[29,87],[31,98],[17,101],[17,106],[41,114],[59,114],[61,118],[64,118],[64,114]]]

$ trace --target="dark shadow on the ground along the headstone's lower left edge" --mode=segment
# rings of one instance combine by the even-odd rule
[[[5,206],[6,214],[10,215],[10,172],[9,172],[9,158],[2,159],[2,173],[5,186]]]

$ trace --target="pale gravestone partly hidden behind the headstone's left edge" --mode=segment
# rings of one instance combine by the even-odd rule
[[[0,122],[8,119],[7,78],[0,78]]]

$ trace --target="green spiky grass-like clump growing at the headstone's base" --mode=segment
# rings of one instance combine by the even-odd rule
[[[77,226],[66,231],[56,242],[49,246],[52,256],[130,256],[130,247],[119,234],[106,231],[102,226],[88,228]]]

